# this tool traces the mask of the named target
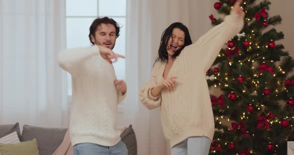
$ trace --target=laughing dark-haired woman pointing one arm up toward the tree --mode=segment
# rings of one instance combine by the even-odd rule
[[[223,23],[191,44],[188,29],[171,24],[162,34],[150,80],[140,90],[148,108],[160,107],[161,124],[171,155],[208,155],[214,118],[205,73],[225,42],[243,27],[237,0]]]

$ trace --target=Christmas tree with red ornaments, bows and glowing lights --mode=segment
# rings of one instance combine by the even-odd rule
[[[214,8],[228,15],[236,0],[219,0]],[[207,71],[215,134],[210,155],[287,155],[287,141],[294,141],[294,60],[276,41],[284,39],[270,16],[269,0],[244,0],[245,24],[229,40]],[[209,16],[213,25],[223,19]],[[229,125],[224,125],[229,124]]]

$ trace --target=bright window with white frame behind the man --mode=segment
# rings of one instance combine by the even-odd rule
[[[88,47],[89,27],[97,17],[108,16],[120,27],[114,52],[125,55],[126,50],[126,0],[66,0],[66,43],[67,48]],[[126,62],[120,59],[113,64],[118,79],[125,79]],[[68,95],[72,95],[71,76],[68,74]]]

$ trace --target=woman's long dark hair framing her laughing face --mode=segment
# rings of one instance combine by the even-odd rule
[[[175,53],[172,55],[172,58],[173,59],[175,59],[177,56],[180,55],[180,53],[181,53],[181,51],[182,51],[182,49],[184,47],[192,44],[192,40],[191,40],[191,37],[190,37],[190,33],[189,33],[188,28],[184,24],[182,24],[180,22],[174,22],[174,23],[172,23],[171,25],[169,25],[163,31],[163,33],[161,35],[160,46],[159,46],[159,49],[158,49],[158,55],[155,58],[154,64],[157,61],[166,62],[168,60],[168,53],[166,51],[166,47],[167,47],[167,44],[168,44],[168,40],[171,37],[172,30],[174,28],[178,28],[178,29],[182,30],[184,32],[184,34],[185,34],[185,38],[184,38],[184,45],[183,45],[183,47],[181,47],[179,50],[175,51]]]

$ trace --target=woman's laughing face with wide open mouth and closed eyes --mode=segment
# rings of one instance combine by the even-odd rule
[[[168,55],[172,56],[177,50],[184,46],[184,43],[185,33],[179,28],[174,28],[167,42],[166,51]]]

